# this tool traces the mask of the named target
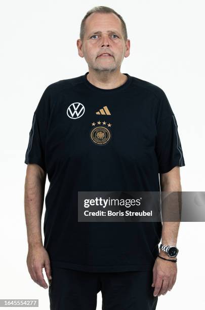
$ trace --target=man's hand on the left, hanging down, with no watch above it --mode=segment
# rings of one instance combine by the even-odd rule
[[[44,246],[28,246],[26,262],[31,279],[38,285],[47,289],[48,285],[44,279],[43,268],[45,268],[45,272],[49,280],[52,279],[52,276],[49,254]]]

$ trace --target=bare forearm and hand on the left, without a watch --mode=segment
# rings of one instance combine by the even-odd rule
[[[28,164],[24,186],[24,209],[28,239],[26,262],[32,280],[40,286],[48,288],[42,271],[45,267],[46,275],[48,279],[51,279],[50,259],[43,246],[41,229],[45,183],[45,171],[37,164]]]

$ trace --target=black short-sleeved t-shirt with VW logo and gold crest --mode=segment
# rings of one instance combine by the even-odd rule
[[[123,85],[104,90],[87,74],[49,85],[33,114],[25,163],[50,181],[44,246],[55,266],[150,270],[162,223],[78,222],[77,195],[159,191],[159,173],[185,166],[177,121],[159,87],[124,73]]]

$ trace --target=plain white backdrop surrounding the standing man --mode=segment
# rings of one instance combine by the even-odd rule
[[[32,281],[26,265],[25,152],[33,112],[46,87],[88,71],[77,54],[76,40],[81,19],[98,5],[113,8],[127,24],[131,54],[121,72],[167,94],[186,164],[180,169],[182,190],[204,191],[203,1],[2,2],[0,299],[39,299],[40,310],[49,309],[49,295]],[[181,223],[177,282],[171,292],[158,297],[157,310],[204,308],[204,233],[204,222]],[[99,292],[97,310],[101,302]]]

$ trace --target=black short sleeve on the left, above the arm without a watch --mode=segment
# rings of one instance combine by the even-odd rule
[[[49,90],[47,87],[33,113],[24,161],[25,164],[39,165],[45,172],[47,172],[45,153],[49,110]]]

